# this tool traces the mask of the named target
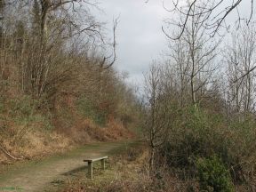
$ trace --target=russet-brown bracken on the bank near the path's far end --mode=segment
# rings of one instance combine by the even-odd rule
[[[63,113],[63,106],[65,106],[65,113]],[[123,124],[115,120],[109,119],[105,126],[100,126],[91,118],[81,116],[77,112],[75,96],[63,97],[56,103],[55,108],[54,113],[57,114],[57,118],[54,120],[54,127],[57,132],[64,133],[78,144],[135,137]]]

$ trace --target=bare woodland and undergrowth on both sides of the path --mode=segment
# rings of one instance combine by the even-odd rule
[[[254,1],[180,2],[163,4],[168,49],[138,93],[115,68],[120,20],[109,36],[97,2],[1,0],[0,163],[141,140],[115,157],[132,176],[92,191],[255,191]]]

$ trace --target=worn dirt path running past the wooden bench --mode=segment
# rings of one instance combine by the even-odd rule
[[[39,162],[20,164],[19,167],[1,173],[0,192],[44,191],[44,187],[53,180],[57,180],[60,175],[83,168],[85,157],[108,155],[109,151],[125,148],[127,145],[127,142],[92,144],[75,149],[65,155],[52,156]]]

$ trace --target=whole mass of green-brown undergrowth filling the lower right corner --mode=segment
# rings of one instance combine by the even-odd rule
[[[156,162],[184,183],[194,180],[188,191],[253,191],[255,127],[251,114],[228,118],[202,108],[182,108],[157,150]],[[159,172],[164,174],[156,167],[156,175]]]

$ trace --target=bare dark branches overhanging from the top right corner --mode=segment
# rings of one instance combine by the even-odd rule
[[[184,16],[184,19],[180,20],[179,23],[173,20],[167,20],[168,25],[172,24],[173,26],[178,26],[180,28],[179,33],[170,33],[167,30],[169,28],[168,25],[167,28],[162,27],[165,36],[172,40],[178,40],[181,38],[181,36],[183,36],[183,33],[186,31],[186,26],[188,26],[189,20],[195,16],[200,16],[204,20],[203,23],[201,22],[202,20],[197,20],[195,24],[202,25],[202,27],[206,29],[205,33],[208,33],[209,36],[213,37],[216,34],[221,34],[221,28],[225,28],[226,30],[230,28],[230,24],[228,24],[226,21],[228,16],[236,17],[236,28],[241,27],[241,21],[244,21],[248,26],[252,22],[253,10],[255,9],[254,0],[193,0],[187,2],[172,0],[171,2],[171,7],[173,8],[168,8],[168,6],[166,7],[165,4],[163,4],[165,11],[170,13],[172,12],[172,15],[178,13]],[[247,16],[246,14],[245,16],[241,16],[242,14],[240,14],[240,9],[242,10],[241,7],[243,5],[246,5],[247,7],[249,6],[248,8],[250,8],[250,12],[247,12]],[[195,10],[195,8],[197,10],[201,10],[201,12],[194,12],[193,10]],[[255,68],[250,68],[247,73],[252,73]],[[247,76],[247,74],[237,78],[237,81],[240,78],[244,78],[244,76]]]

